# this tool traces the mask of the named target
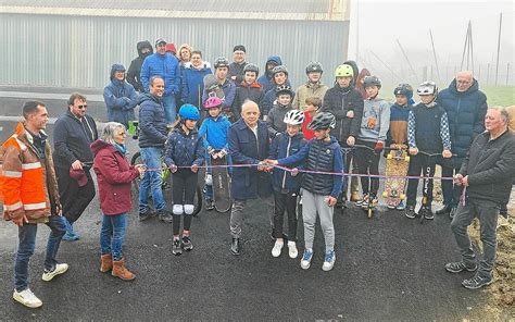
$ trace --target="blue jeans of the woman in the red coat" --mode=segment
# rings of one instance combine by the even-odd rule
[[[111,253],[113,260],[123,259],[122,247],[127,230],[127,214],[102,216],[102,230],[100,231],[100,250],[102,255]]]

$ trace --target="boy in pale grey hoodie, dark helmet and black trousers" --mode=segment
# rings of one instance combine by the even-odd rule
[[[366,76],[363,86],[368,98],[364,102],[363,117],[361,121],[360,134],[357,135],[355,151],[357,170],[360,174],[379,174],[379,156],[385,146],[387,132],[390,126],[390,104],[378,98],[381,82],[377,76]],[[356,206],[368,208],[372,202],[377,205],[377,190],[379,179],[377,177],[361,177],[363,198]]]

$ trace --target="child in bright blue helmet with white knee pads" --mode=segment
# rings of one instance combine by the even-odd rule
[[[193,249],[190,237],[193,198],[197,189],[197,173],[204,163],[204,146],[197,132],[200,112],[197,107],[184,104],[179,109],[179,121],[168,135],[164,162],[172,172],[174,208],[172,210],[174,242],[172,252],[176,256]],[[184,218],[183,236],[179,235]]]

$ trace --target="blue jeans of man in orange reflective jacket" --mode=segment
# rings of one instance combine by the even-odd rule
[[[55,256],[58,255],[61,238],[66,232],[66,225],[64,224],[64,218],[51,215],[47,226],[50,227],[51,232],[48,236],[47,255],[45,257],[45,271],[51,272],[55,269],[58,263]],[[28,288],[28,261],[34,255],[37,231],[37,224],[28,223],[25,223],[17,230],[18,247],[16,262],[14,264],[14,286],[17,292]]]

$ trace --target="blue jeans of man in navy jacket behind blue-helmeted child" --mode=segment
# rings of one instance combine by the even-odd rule
[[[163,190],[161,188],[163,178],[161,177],[161,156],[163,148],[141,148],[141,159],[149,171],[145,172],[145,176],[139,184],[139,212],[143,213],[149,209],[149,193],[152,194],[152,201],[155,210],[164,210],[166,202],[164,201]]]

